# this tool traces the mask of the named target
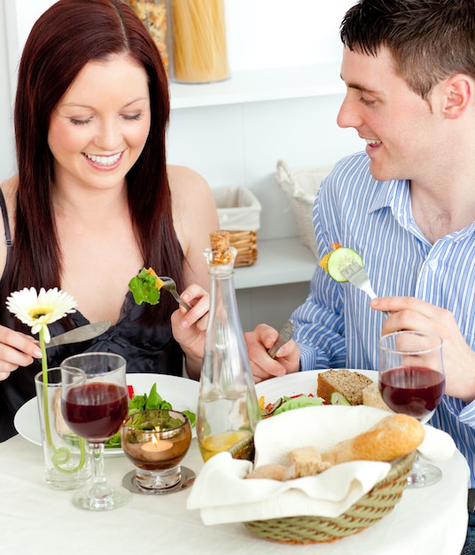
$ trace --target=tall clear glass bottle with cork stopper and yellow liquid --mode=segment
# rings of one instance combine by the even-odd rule
[[[205,461],[236,442],[251,440],[261,419],[237,311],[234,289],[237,249],[229,246],[224,256],[222,253],[212,248],[205,252],[211,303],[197,418],[199,450]]]

